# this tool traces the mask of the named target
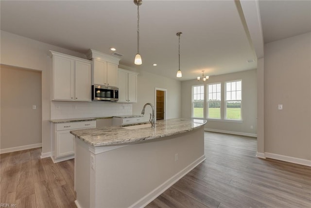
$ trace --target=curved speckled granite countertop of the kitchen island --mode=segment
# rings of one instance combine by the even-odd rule
[[[206,120],[175,118],[156,122],[155,128],[125,129],[122,126],[70,131],[93,147],[120,145],[189,132],[206,124]]]

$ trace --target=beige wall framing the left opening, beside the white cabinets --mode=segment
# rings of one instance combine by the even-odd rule
[[[85,55],[77,52],[1,31],[1,64],[42,71],[43,155],[51,151],[51,126],[49,122],[51,103],[51,59],[48,56],[49,50],[85,58]]]

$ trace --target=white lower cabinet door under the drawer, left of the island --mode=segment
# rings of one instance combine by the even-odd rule
[[[56,132],[56,158],[74,154],[74,135],[69,130]]]

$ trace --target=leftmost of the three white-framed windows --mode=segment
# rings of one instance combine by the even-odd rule
[[[192,86],[192,117],[204,117],[204,85]]]

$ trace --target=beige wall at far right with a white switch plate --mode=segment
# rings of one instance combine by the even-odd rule
[[[310,160],[310,127],[311,33],[265,44],[264,151]]]

